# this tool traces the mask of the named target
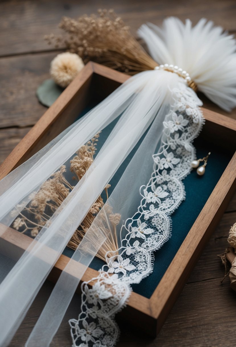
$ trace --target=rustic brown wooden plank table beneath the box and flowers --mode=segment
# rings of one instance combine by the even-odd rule
[[[196,23],[201,17],[214,20],[230,33],[236,32],[235,0],[8,0],[0,2],[0,162],[44,113],[36,99],[37,86],[48,78],[49,64],[60,52],[48,46],[43,36],[58,33],[63,15],[76,17],[113,7],[132,28],[135,35],[140,24],[161,24],[166,16],[175,15]],[[61,47],[63,49],[63,47]],[[201,96],[202,97],[202,96]],[[203,98],[204,106],[236,119],[236,110],[227,114]],[[227,246],[230,226],[236,222],[236,195],[203,251],[191,277],[174,305],[156,339],[130,331],[121,325],[119,346],[235,346],[236,294],[229,279],[221,284],[224,269],[217,258]],[[31,306],[10,346],[22,347],[51,292],[46,282]],[[60,303],[58,303],[60,304]],[[69,347],[70,332],[66,321],[79,312],[79,296],[73,297],[60,332],[52,346]],[[43,332],[42,332],[43,333]],[[43,347],[43,346],[42,346]]]

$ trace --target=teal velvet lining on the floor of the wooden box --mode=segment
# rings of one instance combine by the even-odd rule
[[[90,107],[91,108],[91,107]],[[84,110],[82,114],[88,112],[90,108]],[[82,116],[82,115],[80,115]],[[111,128],[114,126],[115,121],[102,131],[99,138],[99,146],[104,143],[107,135],[110,133]],[[205,205],[211,192],[216,186],[219,178],[223,174],[227,164],[232,158],[232,153],[229,153],[216,146],[215,144],[207,142],[205,139],[198,137],[194,141],[194,146],[197,150],[197,157],[202,158],[211,151],[211,155],[208,159],[205,175],[198,176],[196,170],[193,170],[188,175],[183,183],[185,186],[186,199],[181,203],[179,208],[171,215],[172,219],[172,236],[171,238],[161,247],[159,251],[154,253],[155,260],[153,266],[153,272],[143,279],[139,284],[133,285],[132,288],[135,293],[150,298],[153,291],[157,287],[161,278],[163,277],[166,269],[173,260],[176,252],[180,248],[183,240],[187,236],[191,229],[194,221],[198,217],[200,211]],[[132,158],[137,146],[129,154],[128,158],[124,161],[121,167],[118,169],[110,184],[110,194],[116,186],[119,178],[124,172],[128,162]],[[144,182],[145,184],[145,182]],[[73,252],[70,248],[66,247],[63,254],[72,257]],[[90,264],[90,267],[94,270],[99,270],[104,262],[98,258],[94,258]]]

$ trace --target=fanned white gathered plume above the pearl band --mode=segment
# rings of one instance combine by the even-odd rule
[[[230,111],[236,106],[236,40],[205,18],[192,26],[170,17],[162,28],[144,24],[138,29],[158,64],[173,64],[187,71],[203,92]]]

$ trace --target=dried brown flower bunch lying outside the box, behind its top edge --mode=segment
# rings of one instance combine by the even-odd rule
[[[83,15],[77,20],[63,17],[59,27],[64,30],[65,36],[51,34],[46,35],[45,40],[56,47],[64,45],[85,63],[93,60],[130,75],[157,66],[114,10],[100,9],[98,16]]]

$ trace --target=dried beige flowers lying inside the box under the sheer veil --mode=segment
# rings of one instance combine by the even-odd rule
[[[70,161],[70,170],[74,174],[74,180],[79,181],[91,166],[94,159],[93,156],[96,152],[98,138],[99,133],[88,141],[87,144],[82,146]],[[38,192],[34,192],[30,195],[30,203],[26,205],[26,207],[24,207],[24,203],[16,206],[16,209],[11,212],[13,217],[17,217],[12,223],[13,228],[31,237],[36,237],[38,235],[38,232],[74,188],[65,178],[65,172],[66,167],[63,165],[43,183]],[[105,187],[107,198],[109,187],[109,184]],[[100,195],[78,229],[76,229],[67,245],[68,247],[72,249],[77,248],[103,205],[104,202]],[[108,251],[115,251],[118,248],[116,226],[119,224],[120,215],[113,214],[111,208],[107,208],[106,210],[106,212],[109,213],[110,223],[107,223],[106,217],[103,218],[105,221],[104,225],[97,226],[107,235],[107,240],[97,254],[102,260],[105,260],[105,255]],[[21,212],[19,213],[19,211]],[[112,228],[110,226],[112,226]]]

